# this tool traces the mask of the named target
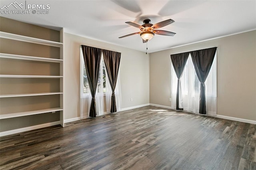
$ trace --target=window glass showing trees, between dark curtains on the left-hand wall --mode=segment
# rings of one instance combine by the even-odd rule
[[[82,60],[83,57],[82,57]],[[89,83],[87,79],[87,74],[86,74],[86,68],[84,61],[83,63],[83,93],[87,94],[90,93],[90,88],[89,88]],[[99,78],[98,78],[98,88],[97,88],[98,93],[105,93],[106,92],[106,70],[105,70],[105,63],[103,56],[101,57],[101,62],[100,62],[100,71],[99,71]]]

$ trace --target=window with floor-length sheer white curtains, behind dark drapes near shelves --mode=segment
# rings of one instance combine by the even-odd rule
[[[120,73],[120,72],[119,72]],[[118,75],[116,83],[115,96],[116,96],[116,109],[121,110],[121,85],[120,75]],[[111,110],[111,95],[112,90],[108,77],[106,75],[106,66],[104,63],[103,55],[101,55],[98,84],[96,88],[95,101],[97,115],[104,115],[110,113]],[[92,95],[88,83],[88,76],[84,64],[84,56],[82,47],[80,47],[80,117],[88,118],[90,113],[90,105],[92,102]]]

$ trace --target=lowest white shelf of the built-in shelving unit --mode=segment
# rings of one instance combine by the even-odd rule
[[[28,111],[28,112],[20,112],[20,113],[9,113],[0,115],[0,119],[8,119],[13,117],[22,117],[22,116],[28,116],[28,115],[37,115],[41,113],[50,113],[50,112],[56,112],[56,111],[62,111],[61,108],[52,108],[52,109],[43,109],[43,110],[37,110],[37,111]]]

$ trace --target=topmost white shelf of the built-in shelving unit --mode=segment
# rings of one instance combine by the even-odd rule
[[[17,35],[17,34],[11,34],[8,32],[0,32],[0,38],[7,38],[7,39],[11,39],[11,40],[37,43],[37,44],[42,44],[42,45],[50,45],[50,46],[54,46],[54,47],[61,47],[63,45],[63,43],[60,43],[60,42],[53,42],[53,41],[49,41],[49,40],[42,40],[39,38],[21,36],[21,35]]]

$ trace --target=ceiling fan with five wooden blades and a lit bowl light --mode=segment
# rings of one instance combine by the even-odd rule
[[[124,38],[124,37],[128,37],[128,36],[140,34],[140,37],[142,38],[143,43],[146,43],[146,42],[148,42],[148,40],[151,40],[154,37],[155,34],[162,35],[162,36],[174,36],[176,34],[174,32],[170,32],[170,31],[156,30],[158,28],[167,26],[167,25],[172,24],[173,22],[175,22],[172,19],[165,20],[165,21],[162,21],[162,22],[158,22],[154,25],[150,24],[150,22],[151,22],[150,19],[146,19],[146,20],[143,21],[144,24],[142,26],[140,26],[138,24],[135,24],[134,22],[125,22],[126,24],[129,24],[131,26],[139,28],[140,32],[135,32],[135,33],[132,33],[132,34],[128,34],[126,36],[122,36],[122,37],[119,37],[119,38]]]

